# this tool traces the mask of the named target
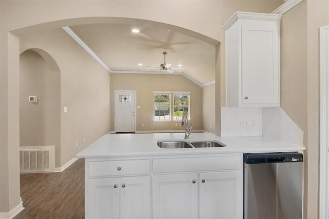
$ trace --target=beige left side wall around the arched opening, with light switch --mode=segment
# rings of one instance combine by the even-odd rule
[[[21,51],[29,48],[48,52],[61,71],[60,167],[109,131],[110,74],[61,28],[21,37]]]

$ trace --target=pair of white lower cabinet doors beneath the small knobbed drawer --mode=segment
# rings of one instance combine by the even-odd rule
[[[150,176],[88,180],[86,218],[151,218]]]

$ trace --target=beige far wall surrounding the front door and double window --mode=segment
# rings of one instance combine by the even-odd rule
[[[111,131],[114,131],[114,91],[136,90],[136,131],[180,130],[180,122],[153,122],[153,91],[191,91],[193,129],[202,129],[202,88],[181,75],[111,73]],[[144,124],[144,127],[141,126]],[[177,126],[176,126],[177,125]]]

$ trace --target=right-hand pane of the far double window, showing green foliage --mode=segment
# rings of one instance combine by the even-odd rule
[[[190,111],[189,111],[190,95],[174,94],[173,98],[174,98],[173,120],[181,120],[183,112],[186,112],[188,114],[188,118],[190,118]]]

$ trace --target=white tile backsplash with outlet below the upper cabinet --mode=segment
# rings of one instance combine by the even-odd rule
[[[281,107],[222,107],[222,136],[269,136],[304,145],[304,132]]]

